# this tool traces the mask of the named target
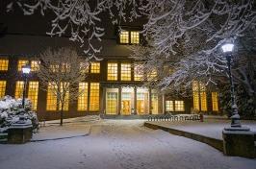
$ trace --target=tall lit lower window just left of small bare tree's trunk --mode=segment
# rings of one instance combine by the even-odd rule
[[[46,110],[57,110],[57,97],[55,94],[56,85],[53,83],[48,84],[47,88],[47,101]]]

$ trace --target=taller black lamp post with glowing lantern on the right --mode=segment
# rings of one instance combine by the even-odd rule
[[[229,83],[230,83],[231,110],[232,110],[231,127],[241,128],[240,115],[239,115],[238,106],[235,99],[235,86],[234,86],[233,76],[231,72],[231,58],[232,58],[232,51],[234,49],[234,44],[225,43],[221,46],[221,49],[225,54],[225,57],[227,60],[227,73],[228,73]]]

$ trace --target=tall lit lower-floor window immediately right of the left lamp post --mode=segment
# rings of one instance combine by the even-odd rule
[[[38,82],[29,82],[28,98],[32,103],[32,109],[38,108]]]

